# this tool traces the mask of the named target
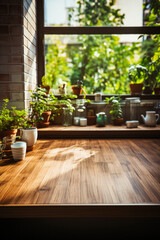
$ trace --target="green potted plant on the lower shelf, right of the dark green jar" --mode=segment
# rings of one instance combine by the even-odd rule
[[[106,103],[111,105],[111,120],[114,125],[120,126],[123,123],[123,112],[120,104],[120,97],[105,98]]]

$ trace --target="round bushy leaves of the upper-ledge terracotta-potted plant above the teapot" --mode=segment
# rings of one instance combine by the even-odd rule
[[[131,83],[143,83],[147,78],[148,70],[142,65],[132,65],[128,70],[128,77]]]

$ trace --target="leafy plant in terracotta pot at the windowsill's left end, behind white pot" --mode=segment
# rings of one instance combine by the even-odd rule
[[[30,102],[30,118],[37,124],[38,128],[48,127],[50,122],[51,110],[48,106],[49,95],[45,88],[37,87],[32,92],[32,101]]]

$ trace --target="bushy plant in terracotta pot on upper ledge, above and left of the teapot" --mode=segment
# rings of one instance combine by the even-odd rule
[[[132,65],[128,71],[128,77],[131,81],[129,87],[131,95],[141,95],[143,88],[143,81],[146,79],[148,70],[139,64]]]

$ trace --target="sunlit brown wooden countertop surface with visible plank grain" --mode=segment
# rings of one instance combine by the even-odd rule
[[[159,204],[159,139],[38,140],[0,160],[0,204]]]

